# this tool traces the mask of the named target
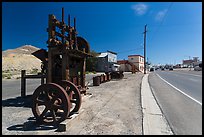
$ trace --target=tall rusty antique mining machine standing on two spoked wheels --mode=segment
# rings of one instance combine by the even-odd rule
[[[49,15],[48,52],[38,50],[34,56],[42,61],[42,73],[46,84],[40,85],[33,93],[32,112],[38,123],[59,124],[81,106],[81,94],[86,94],[86,58],[91,56],[88,42],[77,37],[76,20],[74,27],[54,15]]]

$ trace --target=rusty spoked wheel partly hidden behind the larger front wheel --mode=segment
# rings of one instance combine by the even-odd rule
[[[81,101],[82,101],[81,93],[79,92],[79,89],[72,82],[67,80],[62,80],[58,84],[65,89],[65,91],[69,96],[69,99],[71,102],[70,114],[78,112],[78,110],[81,107]]]

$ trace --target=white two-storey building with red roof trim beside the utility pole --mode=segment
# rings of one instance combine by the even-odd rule
[[[140,72],[144,73],[144,57],[143,56],[129,55],[128,61],[133,63]]]

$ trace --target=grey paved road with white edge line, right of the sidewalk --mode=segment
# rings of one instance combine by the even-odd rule
[[[159,70],[149,83],[175,134],[202,134],[202,72]]]

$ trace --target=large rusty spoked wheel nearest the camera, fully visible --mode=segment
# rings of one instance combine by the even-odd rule
[[[57,125],[70,113],[69,97],[58,84],[40,85],[32,97],[32,112],[38,123]]]

